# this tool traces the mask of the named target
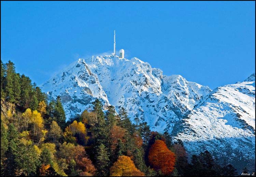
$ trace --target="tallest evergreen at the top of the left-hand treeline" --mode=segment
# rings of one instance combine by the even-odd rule
[[[14,85],[13,85],[14,74],[15,74],[14,63],[12,63],[12,61],[9,60],[8,63],[6,64],[5,91],[6,91],[6,100],[11,103],[14,102]]]

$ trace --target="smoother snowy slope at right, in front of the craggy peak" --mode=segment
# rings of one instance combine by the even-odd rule
[[[173,134],[189,154],[208,150],[238,169],[255,169],[255,74],[214,89],[177,127]]]

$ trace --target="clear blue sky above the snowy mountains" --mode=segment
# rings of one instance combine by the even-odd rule
[[[255,72],[255,2],[1,2],[1,59],[38,85],[78,58],[125,49],[211,89]]]

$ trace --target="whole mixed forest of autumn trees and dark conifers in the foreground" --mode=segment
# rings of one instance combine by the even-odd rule
[[[246,167],[243,173],[248,173]],[[49,101],[36,83],[1,61],[2,176],[236,176],[210,152],[188,159],[181,140],[151,131],[139,118],[95,99],[66,122],[61,97]]]

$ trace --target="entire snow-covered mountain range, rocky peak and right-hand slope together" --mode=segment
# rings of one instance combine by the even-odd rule
[[[131,120],[138,117],[153,131],[169,131],[189,155],[207,149],[220,159],[238,157],[241,167],[254,160],[255,74],[212,91],[180,75],[165,76],[138,58],[93,56],[75,61],[41,88],[49,99],[61,96],[67,119],[90,110],[98,98],[104,108],[124,106]]]

